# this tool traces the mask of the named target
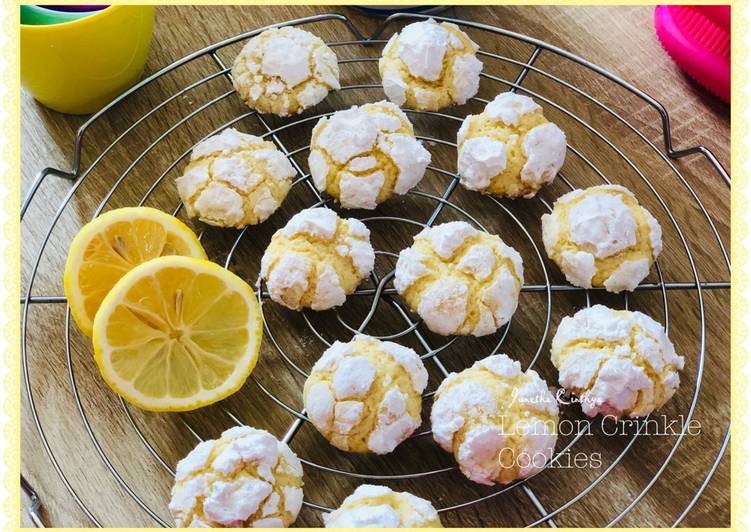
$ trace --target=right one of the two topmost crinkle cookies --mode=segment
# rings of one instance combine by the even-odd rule
[[[383,91],[396,105],[437,111],[477,94],[482,63],[477,44],[455,24],[429,19],[395,33],[378,70]]]

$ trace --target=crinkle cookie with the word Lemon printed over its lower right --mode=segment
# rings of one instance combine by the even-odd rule
[[[507,484],[540,471],[553,456],[558,404],[536,371],[493,355],[446,377],[430,422],[467,478]]]

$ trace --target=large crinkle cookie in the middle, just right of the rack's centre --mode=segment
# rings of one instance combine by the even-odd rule
[[[516,310],[522,259],[497,235],[466,222],[423,229],[399,253],[394,287],[428,328],[444,336],[483,336]]]

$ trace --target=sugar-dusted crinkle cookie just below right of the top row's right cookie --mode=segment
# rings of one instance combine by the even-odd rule
[[[505,92],[457,134],[459,177],[470,190],[531,198],[566,158],[566,135],[532,98]]]

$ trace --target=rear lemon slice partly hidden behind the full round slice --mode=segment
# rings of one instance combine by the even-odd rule
[[[115,209],[81,228],[65,263],[63,285],[73,319],[86,336],[99,305],[133,267],[164,255],[205,259],[190,228],[150,207]]]

